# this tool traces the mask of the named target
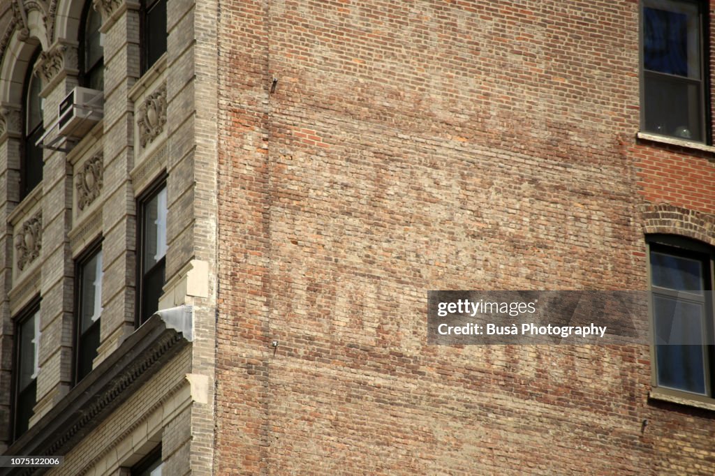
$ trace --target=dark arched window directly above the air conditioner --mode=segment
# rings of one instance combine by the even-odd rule
[[[79,81],[82,86],[104,89],[104,34],[99,31],[102,16],[92,8],[92,1],[84,5],[81,38],[79,39]]]

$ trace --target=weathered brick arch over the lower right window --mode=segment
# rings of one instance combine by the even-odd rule
[[[646,205],[641,210],[645,234],[676,234],[715,247],[715,214],[668,204]]]

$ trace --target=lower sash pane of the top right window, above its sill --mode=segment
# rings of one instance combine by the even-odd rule
[[[644,129],[647,132],[703,141],[701,84],[646,72]]]

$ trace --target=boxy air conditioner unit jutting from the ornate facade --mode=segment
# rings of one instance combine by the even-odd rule
[[[84,137],[104,117],[104,93],[77,86],[59,103],[57,124],[63,137]]]

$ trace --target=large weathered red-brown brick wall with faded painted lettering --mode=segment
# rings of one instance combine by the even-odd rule
[[[647,347],[426,343],[428,289],[646,287],[637,2],[227,0],[219,55],[218,472],[711,472]]]

